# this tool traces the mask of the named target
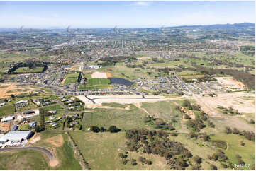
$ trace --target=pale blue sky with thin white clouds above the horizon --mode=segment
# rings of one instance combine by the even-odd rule
[[[255,23],[255,1],[0,1],[0,28]]]

